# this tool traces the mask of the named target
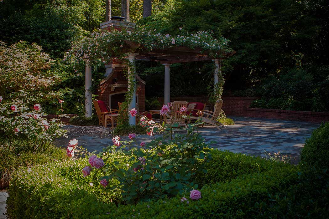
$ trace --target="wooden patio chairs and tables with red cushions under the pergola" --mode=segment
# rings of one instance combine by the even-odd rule
[[[114,128],[114,122],[117,124],[117,119],[119,116],[119,111],[121,110],[121,104],[118,103],[118,109],[110,109],[109,106],[105,104],[102,100],[93,100],[93,104],[96,109],[97,117],[99,120],[99,125],[104,127],[108,126],[108,123],[111,122],[111,128]],[[160,110],[150,110],[145,112],[139,112],[137,106],[137,112],[139,116],[146,116],[148,119],[152,119],[152,116],[155,114],[160,115],[160,120],[164,121],[166,124],[178,124],[178,126],[187,127],[189,122],[184,115],[190,115],[190,120],[198,120],[202,117],[202,122],[208,125],[215,126],[218,130],[221,127],[225,127],[222,123],[217,121],[217,118],[222,109],[223,100],[217,100],[214,106],[214,111],[205,110],[206,104],[200,102],[187,102],[187,101],[173,101],[170,102],[170,111],[164,115],[160,115]],[[186,107],[186,114],[181,114],[181,107]],[[198,113],[198,112],[201,112]],[[136,117],[136,123],[138,123],[139,117]]]

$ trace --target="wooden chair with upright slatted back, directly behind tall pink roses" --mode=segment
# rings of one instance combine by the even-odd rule
[[[178,124],[178,126],[184,126],[185,128],[187,128],[187,125],[185,123],[186,119],[183,118],[184,114],[180,114],[179,110],[181,109],[181,107],[185,106],[187,107],[187,104],[189,102],[186,101],[173,101],[171,102],[171,115],[169,115],[168,113],[165,114],[165,118],[164,118],[164,122],[166,124]]]

